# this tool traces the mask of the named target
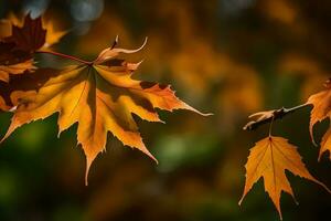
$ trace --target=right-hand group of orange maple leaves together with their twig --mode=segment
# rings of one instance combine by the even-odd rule
[[[254,129],[257,126],[270,122],[270,130],[273,122],[277,118],[281,118],[285,115],[295,112],[296,109],[312,105],[313,108],[310,113],[310,136],[314,145],[313,137],[313,126],[324,119],[331,117],[331,81],[328,80],[324,84],[325,90],[317,94],[311,95],[303,105],[286,109],[275,109],[267,112],[259,112],[250,115],[249,117],[256,118],[249,122],[244,129]],[[300,176],[302,178],[309,179],[320,186],[322,186],[328,192],[331,193],[330,189],[322,182],[318,181],[306,168],[301,160],[300,154],[297,151],[297,147],[290,145],[287,139],[282,137],[271,136],[269,130],[269,136],[256,143],[256,145],[250,149],[250,154],[246,164],[246,183],[244,188],[243,197],[239,201],[242,203],[243,199],[247,192],[252,189],[253,185],[257,182],[261,177],[264,178],[265,190],[268,192],[273,202],[275,203],[280,219],[280,194],[281,191],[288,192],[293,197],[290,183],[285,175],[285,170],[291,171],[293,175]],[[329,129],[323,135],[320,143],[319,158],[329,151],[329,158],[331,160],[331,124]]]

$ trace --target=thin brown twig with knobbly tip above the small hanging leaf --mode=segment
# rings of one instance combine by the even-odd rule
[[[279,109],[275,109],[273,112],[273,114],[266,118],[261,118],[261,119],[257,119],[257,120],[252,120],[252,122],[248,122],[244,127],[243,129],[244,130],[254,130],[256,129],[257,127],[259,127],[260,125],[264,125],[264,124],[267,124],[269,122],[274,122],[276,119],[280,119],[282,118],[284,116],[290,114],[290,113],[293,113],[296,110],[299,110],[299,109],[302,109],[307,106],[309,106],[310,104],[308,103],[305,103],[305,104],[301,104],[301,105],[298,105],[298,106],[295,106],[295,107],[290,107],[290,108],[285,108],[285,107],[281,107]]]

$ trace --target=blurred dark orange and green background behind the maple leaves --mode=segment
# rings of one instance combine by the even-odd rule
[[[0,0],[11,12],[46,13],[68,30],[56,51],[93,60],[119,35],[143,51],[139,80],[171,84],[188,104],[214,116],[161,113],[163,124],[137,118],[159,159],[108,136],[84,186],[85,157],[72,127],[57,139],[56,116],[18,129],[0,148],[0,220],[279,220],[263,181],[238,207],[248,150],[267,136],[242,127],[252,113],[290,107],[322,90],[331,71],[331,1],[305,0]],[[39,63],[68,62],[50,55]],[[308,169],[331,187],[331,164],[308,133],[309,108],[278,120],[274,135],[299,147]],[[11,114],[0,114],[0,133]],[[317,140],[328,123],[317,126]],[[287,172],[299,206],[281,197],[284,220],[325,220],[330,194]]]

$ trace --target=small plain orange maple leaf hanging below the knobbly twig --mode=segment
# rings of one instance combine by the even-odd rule
[[[270,136],[256,143],[256,145],[250,149],[245,168],[246,182],[239,204],[252,189],[253,185],[263,177],[265,190],[271,198],[280,219],[282,219],[280,210],[281,191],[293,197],[293,192],[286,177],[285,170],[289,170],[293,175],[319,183],[330,192],[322,182],[313,178],[306,169],[306,166],[301,160],[301,156],[297,151],[297,147],[290,145],[288,140],[282,137]]]

